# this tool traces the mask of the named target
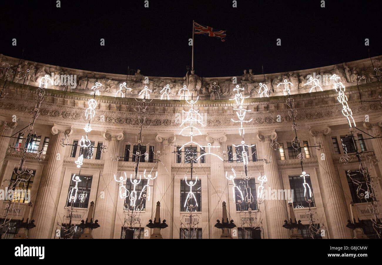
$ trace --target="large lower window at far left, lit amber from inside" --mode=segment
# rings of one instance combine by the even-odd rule
[[[29,170],[27,169],[27,171],[24,171],[23,174],[17,175],[15,173],[17,172],[17,170],[18,168],[15,168],[15,170],[13,171],[10,186],[8,188],[9,190],[12,189],[14,191],[13,199],[11,200],[11,202],[29,203],[31,200],[32,185],[36,171],[32,170],[32,173],[29,174]]]

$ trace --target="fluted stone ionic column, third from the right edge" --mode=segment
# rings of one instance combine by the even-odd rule
[[[257,138],[261,142],[262,153],[264,157],[272,156],[270,163],[264,162],[264,175],[267,177],[267,184],[271,190],[283,190],[283,180],[278,173],[277,153],[272,149],[272,140],[277,139],[275,130],[260,131]],[[281,199],[281,198],[280,198]],[[288,220],[285,200],[272,200],[271,194],[268,194],[268,200],[264,201],[265,215],[267,217],[268,238],[290,238],[289,231],[282,227],[284,220]]]

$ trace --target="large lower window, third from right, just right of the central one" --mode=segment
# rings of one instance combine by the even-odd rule
[[[257,210],[255,179],[249,179],[248,183],[240,178],[234,181],[237,186],[235,188],[236,211],[248,211],[248,208]]]

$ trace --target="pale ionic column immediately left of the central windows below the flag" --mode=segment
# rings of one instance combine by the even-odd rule
[[[158,176],[154,180],[153,193],[152,193],[152,216],[157,208],[157,202],[160,202],[160,218],[166,220],[168,227],[162,229],[163,238],[172,238],[173,229],[173,198],[179,198],[179,196],[173,196],[174,184],[171,183],[171,163],[174,158],[174,146],[172,143],[175,141],[175,134],[173,133],[158,133],[155,136],[155,141],[160,144],[160,156],[158,162]],[[158,221],[158,220],[157,220]]]

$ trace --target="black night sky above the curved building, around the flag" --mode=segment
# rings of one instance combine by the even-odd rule
[[[194,68],[204,77],[333,65],[367,58],[367,48],[382,55],[381,4],[366,0],[326,0],[325,8],[320,0],[238,0],[237,8],[232,0],[6,2],[0,53],[20,58],[24,48],[26,60],[89,71],[185,76],[193,20],[227,30],[225,42],[195,35]]]

